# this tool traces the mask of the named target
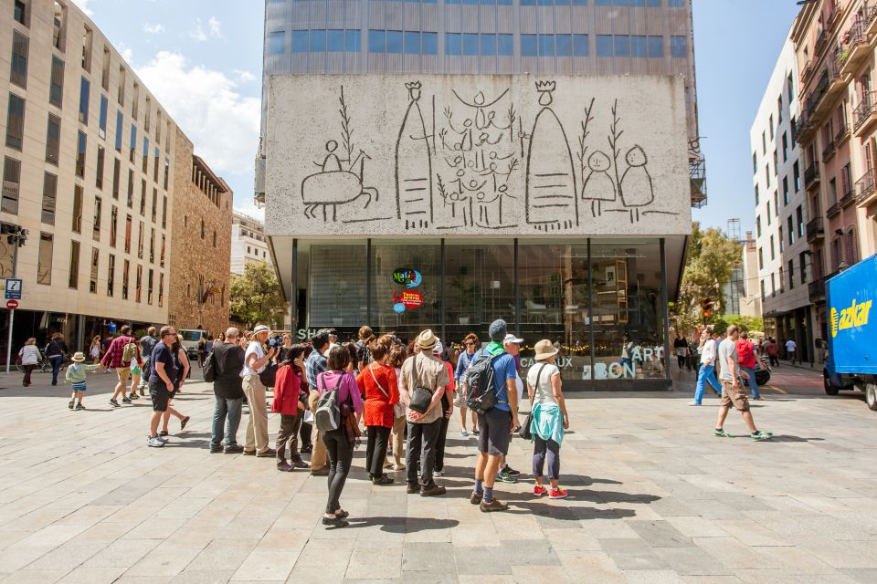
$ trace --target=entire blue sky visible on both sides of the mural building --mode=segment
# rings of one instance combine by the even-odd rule
[[[125,56],[226,179],[252,204],[259,143],[262,0],[74,0]],[[798,13],[795,0],[694,0],[701,147],[709,204],[702,224],[754,223],[749,127]]]

